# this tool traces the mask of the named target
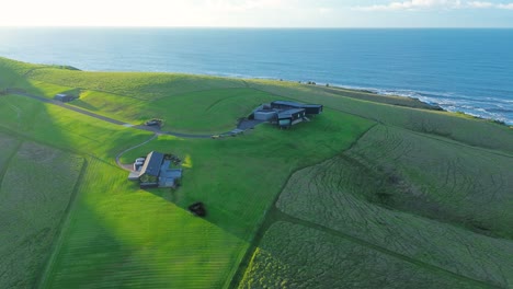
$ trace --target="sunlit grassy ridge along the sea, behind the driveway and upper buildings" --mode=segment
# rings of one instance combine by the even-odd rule
[[[3,59],[3,62],[0,61],[0,70],[2,66],[13,65]],[[47,97],[60,92],[81,92],[83,99],[72,102],[72,105],[134,124],[160,117],[166,120],[164,129],[182,132],[223,132],[235,124],[229,112],[242,117],[254,104],[267,100],[289,99],[322,103],[387,125],[513,153],[513,134],[506,126],[468,115],[434,111],[412,99],[338,88],[171,73],[87,72],[56,67],[30,70],[14,86],[29,91],[37,88],[35,92]],[[229,89],[244,88],[252,90],[229,92]],[[250,94],[259,96],[246,96]],[[217,106],[216,101],[230,95],[233,99],[230,97],[230,101]],[[248,106],[241,109],[240,106],[244,104]],[[217,106],[219,111],[208,109],[210,106]],[[191,119],[196,114],[202,114],[202,117]],[[485,135],[488,138],[482,138]]]

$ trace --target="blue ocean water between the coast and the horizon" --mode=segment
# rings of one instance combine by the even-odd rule
[[[513,30],[0,28],[0,56],[315,81],[513,124]]]

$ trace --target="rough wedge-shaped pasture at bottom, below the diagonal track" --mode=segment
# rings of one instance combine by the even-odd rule
[[[278,221],[265,233],[239,288],[482,288],[479,282]]]

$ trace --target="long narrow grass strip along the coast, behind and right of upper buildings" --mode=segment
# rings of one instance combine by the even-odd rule
[[[468,115],[419,109],[406,105],[397,106],[383,101],[343,96],[343,92],[333,93],[312,85],[265,80],[247,81],[251,88],[290,97],[303,102],[322,103],[333,109],[358,115],[389,126],[396,126],[419,132],[441,136],[469,146],[501,150],[513,153],[513,134],[511,127],[497,125],[491,120],[477,119]]]

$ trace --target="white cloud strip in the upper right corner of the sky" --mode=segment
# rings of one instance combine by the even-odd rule
[[[409,0],[392,1],[388,4],[354,7],[358,11],[420,11],[420,10],[455,10],[455,9],[503,9],[513,10],[513,3],[492,3],[486,1],[461,0]]]

